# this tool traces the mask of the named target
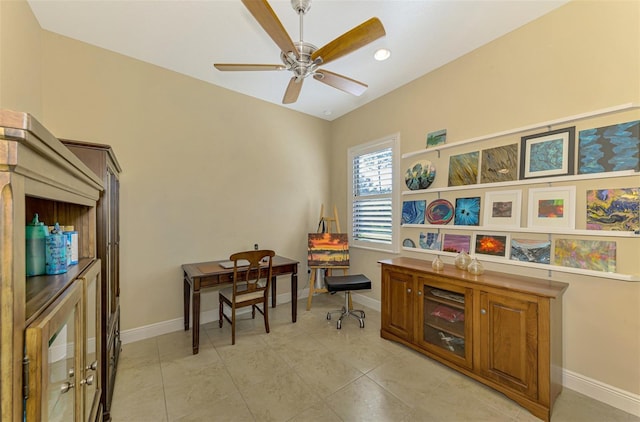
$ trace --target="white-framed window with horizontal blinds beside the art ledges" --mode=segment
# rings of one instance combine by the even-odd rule
[[[399,136],[349,149],[349,235],[351,245],[398,252],[398,199],[394,174]]]

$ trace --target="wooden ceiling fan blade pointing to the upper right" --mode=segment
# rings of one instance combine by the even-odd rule
[[[316,50],[311,55],[311,60],[319,57],[323,64],[329,63],[383,37],[385,34],[380,19],[371,18]]]

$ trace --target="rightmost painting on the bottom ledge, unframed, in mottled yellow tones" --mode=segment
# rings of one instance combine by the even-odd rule
[[[604,272],[616,271],[614,241],[556,239],[553,255],[555,265]]]

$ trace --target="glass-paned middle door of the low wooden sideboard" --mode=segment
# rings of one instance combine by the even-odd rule
[[[419,278],[422,328],[426,349],[471,368],[471,291]]]

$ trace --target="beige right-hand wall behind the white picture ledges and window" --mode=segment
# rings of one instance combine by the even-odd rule
[[[402,153],[408,153],[423,149],[427,132],[438,129],[446,128],[447,142],[453,143],[629,102],[640,103],[640,2],[571,2],[334,121],[331,197],[341,219],[346,218],[345,157],[347,148],[359,143],[399,132]],[[636,119],[637,109],[559,127],[575,124],[580,130]],[[527,134],[453,150],[519,143]],[[449,152],[440,160],[423,155],[405,159],[402,165],[436,160],[434,186],[446,186]],[[584,192],[595,186],[637,187],[640,178],[578,183],[577,227],[584,227]],[[526,211],[523,214],[526,217]],[[638,240],[618,241],[619,270],[638,274]],[[432,259],[409,251],[402,255]],[[379,299],[377,261],[391,255],[352,248],[351,256],[353,270],[374,281],[369,296]],[[532,273],[522,267],[486,266]],[[533,272],[547,276],[546,271]],[[570,284],[564,297],[565,367],[639,394],[640,283],[562,273],[552,277]]]

